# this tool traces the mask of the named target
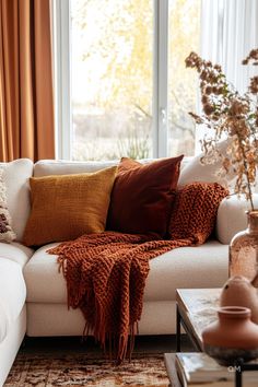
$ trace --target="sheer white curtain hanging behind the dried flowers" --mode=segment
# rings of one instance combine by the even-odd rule
[[[222,66],[227,80],[242,94],[247,91],[257,67],[242,60],[258,47],[257,0],[202,0],[201,57]],[[197,131],[196,152],[204,129]]]

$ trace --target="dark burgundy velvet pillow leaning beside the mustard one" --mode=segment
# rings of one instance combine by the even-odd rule
[[[112,191],[107,228],[165,237],[183,157],[144,165],[122,157]]]

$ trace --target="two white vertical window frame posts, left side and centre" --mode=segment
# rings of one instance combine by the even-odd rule
[[[167,155],[168,0],[153,0],[153,157]],[[71,160],[70,0],[52,0],[56,155]]]

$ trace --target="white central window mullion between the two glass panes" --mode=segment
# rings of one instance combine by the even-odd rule
[[[154,2],[154,156],[167,155],[168,0]]]

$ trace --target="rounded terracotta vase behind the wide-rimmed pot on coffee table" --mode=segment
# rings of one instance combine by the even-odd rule
[[[222,288],[220,306],[244,306],[251,310],[251,320],[258,324],[258,291],[243,275],[230,278]]]

